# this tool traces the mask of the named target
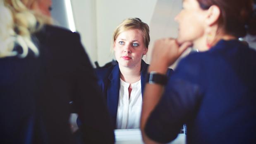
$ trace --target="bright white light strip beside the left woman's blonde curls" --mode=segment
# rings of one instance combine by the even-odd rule
[[[71,5],[70,0],[65,0],[65,6],[66,6],[67,20],[68,20],[68,24],[69,24],[69,29],[71,31],[75,32],[76,27],[75,27],[75,23],[74,23],[72,5]]]

